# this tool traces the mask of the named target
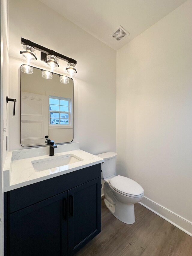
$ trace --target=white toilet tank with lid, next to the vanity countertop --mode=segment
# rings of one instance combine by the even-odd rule
[[[105,159],[105,162],[101,164],[101,178],[108,178],[112,175],[116,175],[116,161],[117,153],[115,152],[106,152],[103,154],[97,155]]]

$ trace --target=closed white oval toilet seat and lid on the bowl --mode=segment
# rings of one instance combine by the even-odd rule
[[[142,186],[136,181],[124,176],[115,176],[109,180],[110,186],[117,192],[129,197],[141,197],[144,194]]]

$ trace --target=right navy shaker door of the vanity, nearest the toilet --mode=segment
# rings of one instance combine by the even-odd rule
[[[101,232],[101,178],[68,190],[68,255]]]

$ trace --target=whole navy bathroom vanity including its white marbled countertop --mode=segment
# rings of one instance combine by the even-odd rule
[[[42,155],[47,147],[39,148],[38,155],[35,149],[24,149],[9,156],[10,184],[4,192],[4,255],[73,255],[101,232],[104,159],[74,150],[78,147],[79,143],[60,145],[54,157]],[[57,159],[55,165],[60,165],[62,158],[69,163],[53,167]],[[52,160],[52,168],[41,170],[42,161],[46,166]]]

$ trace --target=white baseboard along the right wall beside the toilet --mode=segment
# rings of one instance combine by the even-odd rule
[[[165,208],[164,206],[154,202],[153,200],[145,196],[139,203],[146,207],[147,209],[149,209],[150,211],[159,215],[161,218],[178,227],[188,235],[192,236],[192,222],[186,220],[185,218],[179,216],[175,212],[170,211],[169,209]]]

